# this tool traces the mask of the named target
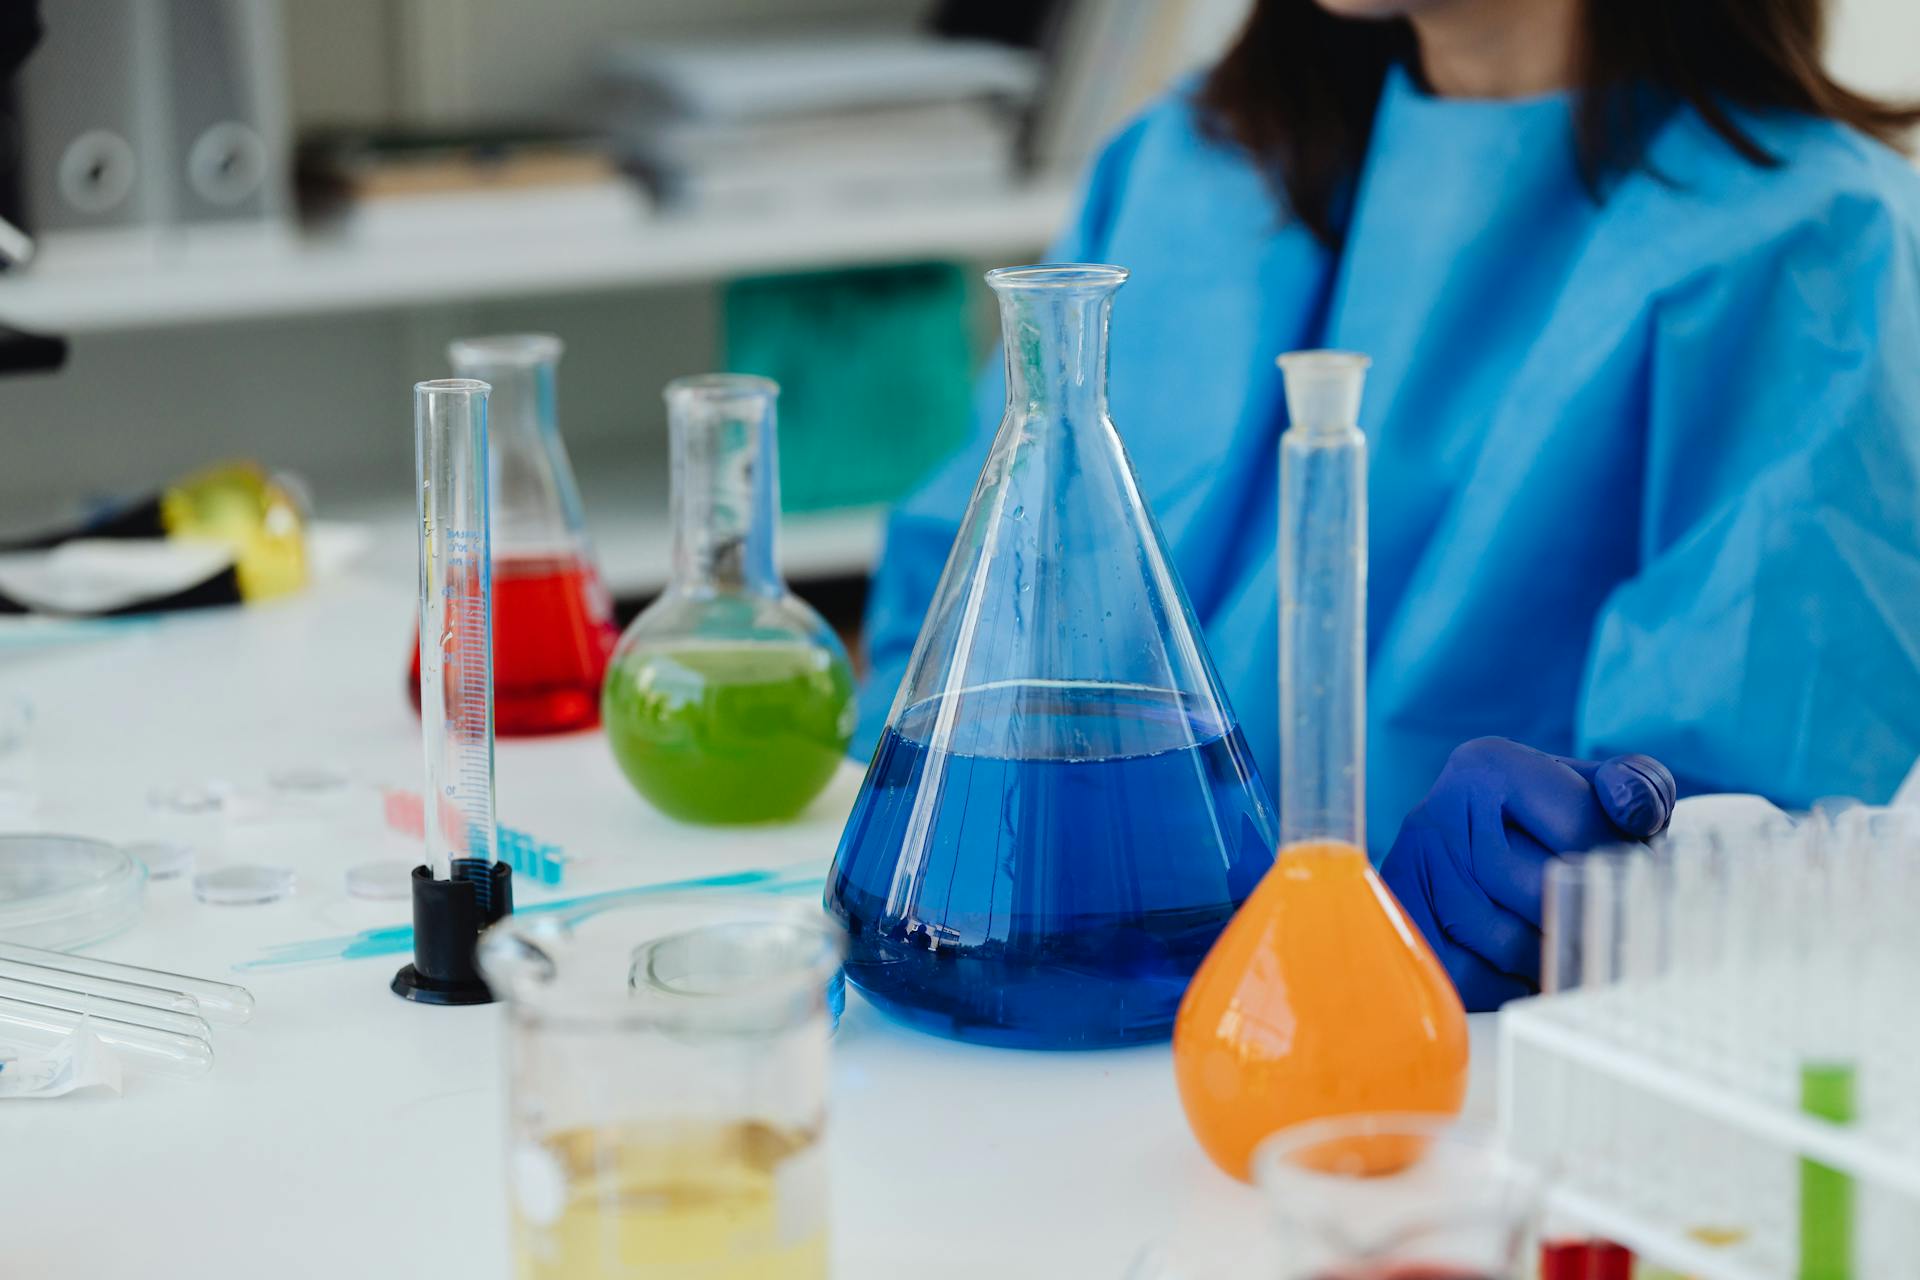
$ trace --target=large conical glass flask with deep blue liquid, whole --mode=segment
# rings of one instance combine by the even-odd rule
[[[1008,407],[828,879],[847,977],[1023,1048],[1169,1034],[1275,818],[1106,403],[1119,267],[993,271]]]

